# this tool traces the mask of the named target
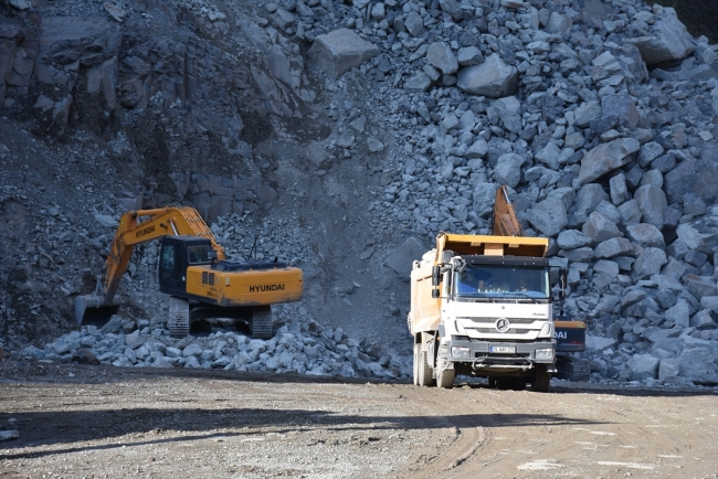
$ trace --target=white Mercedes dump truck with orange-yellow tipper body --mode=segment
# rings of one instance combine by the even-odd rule
[[[506,206],[499,194],[505,190],[497,205]],[[495,232],[510,213],[495,210]],[[414,384],[452,387],[465,374],[501,388],[530,383],[548,392],[556,372],[548,244],[497,234],[436,236],[436,247],[411,272]]]

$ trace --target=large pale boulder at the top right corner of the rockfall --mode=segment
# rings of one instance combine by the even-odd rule
[[[680,23],[676,11],[672,8],[663,9],[648,35],[626,39],[626,42],[638,47],[646,65],[685,58],[694,50],[686,25]]]

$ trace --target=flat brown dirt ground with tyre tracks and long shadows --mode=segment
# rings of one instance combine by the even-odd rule
[[[561,384],[4,362],[0,477],[718,477],[715,388]]]

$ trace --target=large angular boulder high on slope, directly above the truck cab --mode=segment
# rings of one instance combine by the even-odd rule
[[[481,65],[473,65],[458,72],[461,89],[473,95],[500,98],[514,95],[518,88],[518,71],[494,53]]]

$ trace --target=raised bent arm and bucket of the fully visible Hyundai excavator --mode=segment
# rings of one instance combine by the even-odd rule
[[[147,219],[141,221],[141,219]],[[217,243],[212,230],[193,207],[167,206],[156,210],[128,211],[119,226],[105,263],[105,278],[97,283],[93,295],[75,298],[75,322],[82,324],[87,308],[112,307],[119,281],[129,266],[136,245],[162,236],[190,235],[210,240],[219,260],[225,258],[224,248]]]

